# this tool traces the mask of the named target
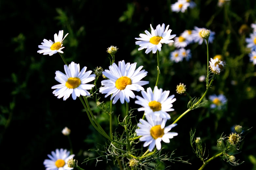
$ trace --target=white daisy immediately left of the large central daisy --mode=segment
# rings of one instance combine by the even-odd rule
[[[69,98],[70,94],[72,94],[72,98],[76,100],[80,95],[89,96],[90,93],[87,90],[91,90],[94,85],[86,84],[95,79],[95,74],[92,74],[92,71],[85,72],[87,67],[84,67],[80,71],[80,65],[74,62],[71,64],[64,65],[65,74],[60,71],[55,72],[55,79],[61,84],[52,86],[52,89],[56,89],[52,93],[57,98],[60,99],[63,97],[63,100]]]

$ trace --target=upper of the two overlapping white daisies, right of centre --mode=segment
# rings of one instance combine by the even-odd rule
[[[138,100],[135,101],[136,104],[143,106],[138,108],[138,111],[145,111],[145,116],[160,116],[163,119],[171,119],[167,112],[174,110],[171,107],[176,98],[174,98],[174,94],[168,97],[169,93],[170,91],[163,91],[157,86],[154,88],[154,93],[150,87],[147,88],[147,92],[141,91],[143,98],[136,96]]]

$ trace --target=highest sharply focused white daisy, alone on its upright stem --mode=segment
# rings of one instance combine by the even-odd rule
[[[135,42],[136,45],[140,46],[138,50],[146,49],[145,53],[147,54],[150,51],[152,51],[153,53],[156,53],[157,50],[161,51],[162,43],[169,44],[173,42],[173,40],[170,40],[170,39],[176,36],[176,35],[171,35],[172,30],[171,29],[168,30],[169,25],[167,25],[165,30],[164,30],[165,28],[164,24],[162,24],[162,27],[159,24],[155,30],[151,24],[150,24],[150,27],[151,27],[151,34],[147,30],[145,30],[146,35],[140,34],[141,38],[135,38],[137,40],[141,40],[141,41]]]

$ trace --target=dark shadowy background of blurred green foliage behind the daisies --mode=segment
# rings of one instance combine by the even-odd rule
[[[250,0],[231,0],[226,8],[220,8],[215,0],[195,2],[195,9],[188,9],[185,13],[172,13],[170,4],[174,1],[170,0],[0,1],[0,45],[3,51],[1,169],[45,169],[43,161],[47,159],[47,154],[57,148],[69,149],[67,137],[61,134],[65,126],[72,131],[70,137],[78,163],[82,163],[88,153],[96,156],[88,149],[96,149],[106,141],[90,125],[78,99],[73,101],[70,97],[63,101],[52,94],[51,87],[57,83],[54,79],[55,71],[64,72],[64,63],[59,54],[42,55],[37,50],[40,50],[38,45],[44,38],[53,40],[53,35],[59,30],[64,30],[64,35],[69,33],[63,45],[68,63],[74,61],[80,67],[87,66],[88,70],[93,70],[96,66],[108,69],[110,55],[106,50],[111,45],[117,46],[119,50],[115,56],[116,63],[121,60],[137,62],[137,67],[144,65],[144,69],[149,72],[144,80],[150,81],[150,84],[144,88],[152,88],[155,84],[156,54],[146,55],[145,50],[137,51],[134,38],[139,37],[144,30],[149,30],[150,23],[154,28],[158,24],[169,24],[172,34],[177,36],[194,26],[207,27],[216,33],[214,43],[210,45],[210,57],[222,54],[228,65],[224,73],[217,76],[209,94],[224,93],[228,104],[221,111],[211,110],[210,104],[207,104],[179,120],[178,126],[173,129],[179,135],[170,144],[162,145],[165,147],[163,153],[177,149],[174,156],[186,156],[184,160],[190,159],[192,165],[166,162],[166,165],[171,165],[171,169],[198,169],[202,164],[189,143],[191,128],[196,129],[196,136],[200,136],[203,143],[206,143],[210,158],[220,152],[216,148],[216,141],[223,132],[229,135],[236,124],[242,125],[245,130],[252,127],[255,124],[255,66],[249,62],[248,49],[245,48],[245,37],[252,30],[248,27],[240,34],[239,29],[242,24],[250,26],[256,20],[256,3]],[[226,34],[227,30],[231,33]],[[175,94],[177,98],[173,106],[175,111],[171,113],[172,119],[167,122],[169,124],[187,109],[188,98],[176,93],[177,84],[186,84],[187,91],[192,96],[201,96],[205,91],[205,85],[198,82],[198,77],[205,74],[206,45],[188,46],[187,49],[192,50],[192,59],[177,64],[168,60],[169,52],[173,49],[164,44],[160,53],[162,77],[159,87],[170,90],[170,94]],[[101,80],[103,78],[99,82]],[[231,85],[231,80],[236,80],[237,85]],[[104,100],[104,96],[101,97]],[[130,106],[137,108],[134,101],[131,99]],[[124,106],[120,102],[114,105],[117,116],[123,110]],[[95,112],[101,117],[99,111]],[[142,113],[137,111],[134,114],[142,117]],[[107,118],[103,117],[101,124],[108,132]],[[117,122],[114,125],[115,128],[119,127]],[[255,159],[256,156],[255,142],[255,131],[252,128],[240,143],[242,152],[236,155],[237,159],[245,163],[234,167],[221,158],[216,158],[205,169],[255,169],[255,160],[253,162],[251,158]],[[94,168],[95,163],[96,161],[90,161],[81,167]],[[105,160],[97,164],[96,168],[100,167],[116,169],[112,162],[106,164]]]

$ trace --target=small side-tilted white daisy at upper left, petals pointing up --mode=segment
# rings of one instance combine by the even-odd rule
[[[43,43],[41,43],[42,45],[38,46],[40,49],[43,50],[38,50],[37,52],[39,52],[40,54],[43,53],[43,55],[49,54],[49,56],[56,54],[57,52],[63,53],[63,51],[61,51],[62,49],[64,49],[64,47],[62,47],[62,42],[67,35],[68,34],[66,34],[63,38],[63,30],[61,30],[59,31],[58,35],[54,34],[55,42],[52,42],[52,40],[48,41],[47,39],[43,39]]]

